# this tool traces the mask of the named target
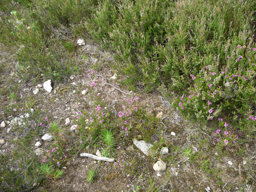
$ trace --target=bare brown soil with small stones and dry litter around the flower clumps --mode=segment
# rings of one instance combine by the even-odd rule
[[[86,55],[88,59],[83,59],[82,55]],[[82,95],[82,90],[87,88],[90,83],[90,78],[87,76],[88,70],[92,66],[97,66],[96,74],[105,76],[110,79],[115,71],[110,69],[114,65],[113,55],[109,52],[104,52],[98,49],[97,46],[86,44],[79,47],[74,56],[74,59],[82,60],[83,65],[79,66],[79,73],[74,74],[71,78],[65,79],[61,82],[53,82],[53,90],[47,93],[44,89],[40,88],[37,95],[33,94],[33,90],[37,84],[43,84],[44,80],[39,79],[36,82],[20,81],[15,71],[15,61],[7,57],[7,53],[1,53],[1,66],[0,71],[0,89],[7,89],[5,86],[14,85],[16,95],[23,95],[23,98],[33,98],[35,107],[41,109],[42,115],[47,116],[52,121],[57,121],[60,125],[65,126],[65,119],[76,118],[76,113],[72,110],[72,106],[78,106],[79,110],[91,111],[93,100],[90,95]],[[11,73],[15,75],[11,76]],[[118,79],[110,81],[120,89],[129,92],[127,87],[120,86],[118,83],[126,77],[118,75]],[[75,82],[76,85],[73,85]],[[75,93],[74,93],[75,91]],[[11,90],[9,91],[9,93]],[[105,102],[109,103],[113,113],[118,113],[123,98],[132,98],[132,96],[120,93],[114,90],[111,86],[105,84],[102,80],[97,86],[95,92],[101,93]],[[3,93],[3,94],[2,94]],[[1,91],[1,104],[0,104],[0,121],[11,121],[14,117],[23,115],[24,113],[13,111],[11,114],[7,113],[5,108],[10,104],[10,95],[8,91]],[[179,112],[174,110],[169,102],[163,98],[158,92],[146,94],[137,93],[139,102],[148,114],[157,116],[162,112],[161,122],[161,138],[168,141],[169,153],[160,157],[167,163],[166,172],[158,177],[153,170],[153,165],[158,161],[157,155],[155,157],[146,157],[132,142],[127,146],[124,145],[120,149],[116,149],[115,159],[120,157],[121,163],[116,166],[113,164],[107,165],[106,162],[95,161],[91,158],[80,157],[80,153],[86,152],[95,154],[97,148],[91,147],[87,151],[79,151],[73,158],[72,162],[66,169],[64,175],[59,180],[44,180],[39,184],[34,191],[133,191],[136,186],[139,186],[137,191],[206,191],[205,188],[209,186],[211,191],[240,191],[243,187],[245,191],[256,190],[255,186],[255,159],[253,158],[255,152],[255,141],[248,142],[244,146],[229,147],[225,146],[221,152],[216,151],[217,135],[214,132],[207,132],[200,128],[198,124],[191,124],[189,121],[183,120]],[[38,126],[31,120],[30,129]],[[21,138],[22,133],[17,129],[11,128],[7,133],[9,125],[0,129],[0,139],[4,139],[5,143],[0,144],[0,153],[10,155],[15,148],[11,144],[11,140]],[[38,138],[43,145],[40,147],[42,150],[48,148],[49,143],[41,140],[41,136],[47,132],[42,129]],[[176,136],[172,136],[171,132],[175,132]],[[134,136],[138,138],[139,136]],[[202,143],[202,140],[205,142]],[[157,144],[160,141],[160,135],[151,136],[150,143]],[[35,143],[31,143],[31,147]],[[249,145],[249,147],[248,147]],[[177,151],[176,147],[180,148]],[[203,157],[191,161],[187,155],[182,153],[185,147],[192,149],[192,154],[197,154],[203,151]],[[247,147],[246,147],[247,146]],[[236,155],[236,152],[244,147],[242,155]],[[158,151],[160,148],[158,149]],[[223,155],[224,154],[224,155]],[[218,155],[220,158],[218,158]],[[40,155],[39,155],[39,158]],[[211,163],[211,168],[217,170],[217,173],[204,170],[203,159],[207,159]],[[228,161],[233,162],[233,165],[227,164]],[[246,161],[246,163],[244,163]],[[131,165],[131,162],[132,165]],[[207,163],[207,162],[204,162]],[[122,165],[125,165],[122,167]],[[129,169],[127,168],[129,167]],[[209,166],[208,166],[209,167]],[[15,169],[15,167],[13,167]],[[97,170],[97,179],[93,183],[86,180],[86,174],[90,168]],[[251,173],[251,177],[248,173]],[[152,183],[153,187],[152,187]],[[151,187],[150,187],[151,186]]]

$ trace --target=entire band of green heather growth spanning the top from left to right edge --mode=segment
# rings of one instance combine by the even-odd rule
[[[89,37],[114,50],[114,68],[126,82],[141,82],[144,91],[160,86],[183,114],[228,117],[240,127],[255,121],[253,0],[19,1],[27,12],[17,14],[8,3],[1,8],[1,42],[16,47],[25,79],[65,78],[78,64],[70,39]]]

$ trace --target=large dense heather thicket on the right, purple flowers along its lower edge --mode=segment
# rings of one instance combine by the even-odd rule
[[[187,116],[241,125],[255,113],[255,11],[240,0],[102,1],[87,26],[127,82],[163,84]]]

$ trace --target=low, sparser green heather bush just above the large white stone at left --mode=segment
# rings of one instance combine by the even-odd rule
[[[13,11],[1,33],[1,41],[12,48],[19,75],[24,80],[32,76],[61,80],[74,72],[74,61],[61,46],[61,39],[54,35],[45,38],[36,25],[30,24]]]

